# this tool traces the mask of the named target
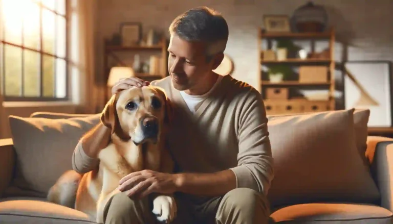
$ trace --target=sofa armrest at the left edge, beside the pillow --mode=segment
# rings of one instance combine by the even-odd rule
[[[13,146],[12,138],[0,139],[0,198],[12,179],[15,165]]]

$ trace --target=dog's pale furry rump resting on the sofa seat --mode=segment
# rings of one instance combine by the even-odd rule
[[[49,189],[47,200],[58,205],[75,208],[76,192],[82,175],[74,170],[68,170],[60,176]]]

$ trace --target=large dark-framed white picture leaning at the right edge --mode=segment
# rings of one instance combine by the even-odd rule
[[[368,127],[392,127],[392,74],[389,61],[344,64],[345,109],[368,108]]]

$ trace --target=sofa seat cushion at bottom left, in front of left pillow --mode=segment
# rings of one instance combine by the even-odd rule
[[[96,223],[75,209],[36,197],[10,197],[0,201],[0,223]]]

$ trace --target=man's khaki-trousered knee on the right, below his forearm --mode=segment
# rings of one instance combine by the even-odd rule
[[[231,220],[237,217],[247,219],[243,221],[246,223],[267,223],[269,215],[269,204],[264,194],[249,188],[236,188],[223,196],[216,219],[221,223],[234,223]]]

